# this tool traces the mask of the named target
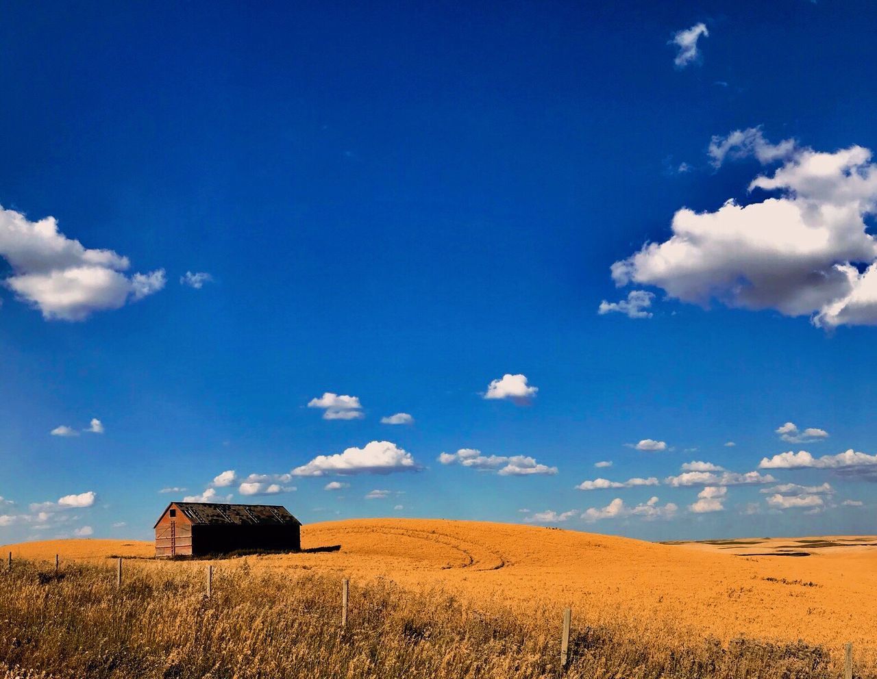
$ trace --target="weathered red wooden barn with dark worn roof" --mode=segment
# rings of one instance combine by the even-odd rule
[[[302,548],[301,522],[279,505],[172,502],[154,528],[156,556]]]

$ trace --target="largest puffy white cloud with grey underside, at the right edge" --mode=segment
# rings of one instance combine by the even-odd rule
[[[616,262],[612,277],[703,307],[715,299],[811,315],[824,328],[877,324],[877,241],[866,226],[877,211],[874,168],[861,146],[795,148],[773,176],[750,183],[779,195],[745,206],[730,200],[715,212],[680,209],[672,237]]]

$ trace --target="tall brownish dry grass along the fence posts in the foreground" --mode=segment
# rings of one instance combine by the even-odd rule
[[[559,667],[560,611],[474,606],[388,580],[351,584],[341,629],[340,578],[203,564],[109,567],[17,562],[0,573],[0,676],[268,679],[282,677],[837,677],[821,647],[680,636],[574,620],[573,659]],[[859,663],[861,664],[861,663]],[[857,676],[877,677],[867,663]]]

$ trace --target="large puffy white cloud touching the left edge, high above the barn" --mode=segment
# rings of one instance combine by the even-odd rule
[[[128,258],[111,250],[90,250],[58,230],[54,217],[31,222],[0,207],[0,257],[12,275],[4,282],[18,298],[39,308],[46,320],[82,321],[92,312],[115,309],[164,286],[164,271],[124,271]]]

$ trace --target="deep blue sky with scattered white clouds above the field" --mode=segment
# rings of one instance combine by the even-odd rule
[[[4,4],[0,542],[873,533],[875,11]]]

